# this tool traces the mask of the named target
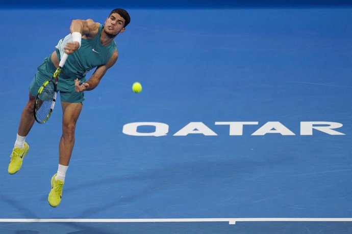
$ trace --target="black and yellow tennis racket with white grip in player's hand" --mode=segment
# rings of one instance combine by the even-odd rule
[[[58,93],[57,85],[59,74],[62,72],[62,67],[66,63],[67,56],[66,53],[62,55],[58,69],[56,69],[52,78],[48,79],[40,86],[38,94],[35,97],[34,119],[39,124],[44,124],[50,118],[50,115],[54,110]]]

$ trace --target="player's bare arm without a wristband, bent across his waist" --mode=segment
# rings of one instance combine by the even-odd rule
[[[117,57],[118,54],[117,50],[115,49],[108,63],[106,65],[97,67],[93,75],[89,78],[87,82],[84,82],[80,85],[80,81],[78,79],[74,80],[74,89],[76,90],[76,92],[94,90],[95,87],[98,86],[100,80],[105,75],[106,71],[116,63]]]

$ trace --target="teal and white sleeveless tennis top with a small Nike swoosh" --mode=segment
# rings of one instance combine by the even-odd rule
[[[100,43],[102,30],[103,25],[100,24],[98,34],[94,38],[82,38],[81,47],[74,53],[68,55],[67,61],[63,67],[63,75],[60,75],[60,78],[70,79],[71,81],[78,78],[81,81],[85,81],[85,76],[90,70],[108,63],[116,49],[116,43],[113,40],[109,45],[103,46]],[[59,60],[64,53],[66,43],[71,41],[71,34],[59,41],[56,46]]]

